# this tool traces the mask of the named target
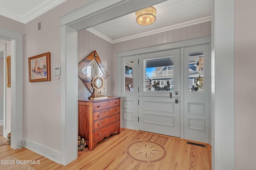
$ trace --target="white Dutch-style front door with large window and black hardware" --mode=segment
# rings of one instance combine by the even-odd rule
[[[180,49],[138,59],[138,130],[180,137]]]

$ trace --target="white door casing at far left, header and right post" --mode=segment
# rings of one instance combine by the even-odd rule
[[[0,39],[11,41],[11,147],[18,148],[18,142],[22,140],[22,34],[0,27]],[[4,84],[4,95],[6,84]],[[5,96],[4,96],[5,98]],[[4,103],[5,106],[5,103]],[[5,113],[4,113],[5,114]],[[5,117],[4,117],[5,119]],[[5,128],[5,125],[4,125]]]

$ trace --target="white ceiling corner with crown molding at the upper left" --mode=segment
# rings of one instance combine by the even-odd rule
[[[28,23],[66,0],[0,0],[0,15]]]

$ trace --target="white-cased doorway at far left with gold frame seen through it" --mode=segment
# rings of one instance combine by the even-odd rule
[[[10,145],[12,149],[17,149],[18,142],[22,140],[23,77],[22,64],[20,64],[22,63],[22,34],[0,27],[0,39],[4,44],[0,46],[0,52],[4,51],[4,74],[3,81],[1,80],[3,84],[3,135],[7,137],[11,130]]]

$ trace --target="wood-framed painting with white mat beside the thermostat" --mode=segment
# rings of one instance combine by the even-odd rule
[[[29,82],[51,81],[50,52],[28,58]]]

